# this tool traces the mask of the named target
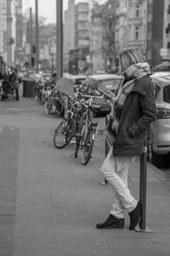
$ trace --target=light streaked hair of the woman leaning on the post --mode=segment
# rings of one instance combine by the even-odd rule
[[[130,67],[133,64],[142,63],[145,61],[145,57],[141,54],[139,49],[126,49],[120,54],[122,70],[127,69],[127,67]]]

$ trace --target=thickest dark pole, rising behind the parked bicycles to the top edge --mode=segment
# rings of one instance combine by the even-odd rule
[[[56,15],[57,15],[57,32],[56,32],[56,65],[57,65],[57,79],[63,76],[63,1],[56,0]]]

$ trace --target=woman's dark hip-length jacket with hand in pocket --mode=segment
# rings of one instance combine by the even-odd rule
[[[113,155],[140,155],[150,123],[156,120],[154,87],[150,76],[138,79],[122,108]]]

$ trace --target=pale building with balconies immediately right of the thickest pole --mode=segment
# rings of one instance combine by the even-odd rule
[[[89,56],[89,3],[68,2],[64,22],[64,71],[81,73]],[[89,59],[88,59],[89,60]]]

